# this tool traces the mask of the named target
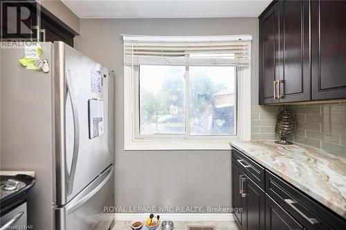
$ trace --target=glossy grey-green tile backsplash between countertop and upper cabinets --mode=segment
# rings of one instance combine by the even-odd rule
[[[297,128],[293,142],[346,154],[346,102],[290,105]],[[252,106],[251,139],[277,140],[280,106]]]

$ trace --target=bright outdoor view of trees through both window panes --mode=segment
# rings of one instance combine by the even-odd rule
[[[235,73],[230,66],[140,66],[140,134],[183,134],[189,119],[190,135],[235,135]]]

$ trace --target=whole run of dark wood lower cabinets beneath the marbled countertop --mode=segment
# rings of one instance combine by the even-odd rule
[[[263,169],[260,180],[248,175]],[[262,182],[265,181],[264,189]],[[309,195],[232,149],[232,207],[241,230],[345,230],[346,220]]]

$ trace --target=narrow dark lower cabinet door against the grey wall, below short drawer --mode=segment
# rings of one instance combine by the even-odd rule
[[[244,176],[242,169],[233,163],[232,164],[232,208],[233,210],[238,210],[233,213],[235,217],[235,222],[237,223],[239,229],[246,229],[246,215],[244,211],[239,211],[239,209],[244,209],[242,194],[240,193],[240,180]]]

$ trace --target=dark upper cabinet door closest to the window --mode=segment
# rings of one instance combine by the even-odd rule
[[[280,79],[280,2],[260,18],[260,104],[278,103],[274,82]]]

